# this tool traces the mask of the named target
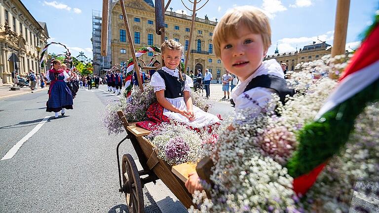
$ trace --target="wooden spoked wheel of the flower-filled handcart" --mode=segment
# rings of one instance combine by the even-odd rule
[[[133,157],[122,156],[123,189],[129,213],[144,213],[144,195],[142,194],[141,178]]]

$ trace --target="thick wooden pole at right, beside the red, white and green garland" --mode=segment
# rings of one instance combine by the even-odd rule
[[[337,0],[332,57],[345,53],[350,0]]]

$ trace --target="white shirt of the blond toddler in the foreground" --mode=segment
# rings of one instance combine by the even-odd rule
[[[248,107],[264,107],[267,102],[272,99],[271,94],[275,93],[275,90],[269,88],[256,87],[243,92],[253,78],[265,74],[275,75],[284,79],[284,72],[275,59],[262,62],[262,65],[257,71],[250,75],[246,80],[240,80],[240,83],[233,89],[231,97],[235,103],[236,112]]]

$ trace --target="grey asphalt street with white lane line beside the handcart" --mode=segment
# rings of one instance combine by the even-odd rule
[[[0,158],[34,133],[14,156],[0,161],[1,213],[128,212],[118,192],[115,154],[126,135],[108,135],[100,125],[104,107],[118,98],[105,92],[106,86],[100,89],[80,89],[74,110],[58,119],[45,111],[44,91],[0,100]],[[226,103],[214,103],[211,112],[225,117],[232,110]],[[120,150],[138,164],[130,142]],[[147,184],[144,196],[146,213],[186,212],[162,182]]]

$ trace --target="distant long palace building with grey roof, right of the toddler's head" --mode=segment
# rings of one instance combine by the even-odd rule
[[[276,59],[276,61],[287,64],[287,70],[294,71],[295,66],[302,62],[309,62],[317,59],[321,59],[324,55],[331,54],[332,46],[324,42],[306,45],[303,49],[296,52],[280,53],[278,48],[275,50],[275,54],[267,55],[264,60]]]

